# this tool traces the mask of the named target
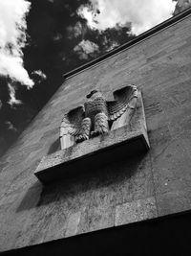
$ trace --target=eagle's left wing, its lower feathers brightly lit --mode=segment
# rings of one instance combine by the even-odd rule
[[[60,142],[62,150],[74,145],[75,136],[79,134],[84,116],[85,111],[83,105],[72,109],[64,115],[60,126]]]

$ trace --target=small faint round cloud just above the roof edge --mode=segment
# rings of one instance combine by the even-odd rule
[[[98,45],[90,40],[82,40],[74,47],[80,59],[87,59],[90,56],[94,56],[95,52],[98,52]]]

